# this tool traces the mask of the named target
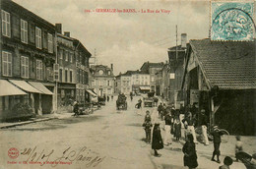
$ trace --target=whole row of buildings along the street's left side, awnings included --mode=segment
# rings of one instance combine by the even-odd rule
[[[90,67],[92,54],[70,32],[63,33],[61,24],[52,25],[11,0],[0,2],[2,120],[26,116],[28,110],[51,113],[74,100],[85,103],[113,93],[113,66]]]

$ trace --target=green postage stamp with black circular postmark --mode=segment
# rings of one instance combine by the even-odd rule
[[[212,40],[253,40],[253,2],[212,2]]]

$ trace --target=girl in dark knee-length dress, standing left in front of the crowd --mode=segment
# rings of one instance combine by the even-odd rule
[[[157,157],[160,157],[158,150],[162,148],[163,148],[163,143],[160,136],[160,123],[155,123],[154,129],[153,129],[153,138],[152,138],[152,149],[154,149],[154,155]]]

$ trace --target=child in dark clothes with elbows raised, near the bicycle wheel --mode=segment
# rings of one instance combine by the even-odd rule
[[[221,137],[224,134],[220,131],[218,126],[214,126],[214,131],[211,133],[211,135],[214,137],[214,152],[213,152],[212,161],[216,161],[215,156],[217,155],[217,162],[221,163],[221,161],[220,161],[220,155],[221,155],[220,146],[221,146],[221,142],[222,142]]]

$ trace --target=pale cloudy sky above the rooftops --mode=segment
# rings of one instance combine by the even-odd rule
[[[165,62],[167,48],[187,39],[208,38],[209,1],[181,0],[13,0],[35,15],[70,31],[114,74],[139,70],[144,62]],[[137,13],[96,13],[96,9],[135,9]],[[141,10],[169,13],[142,13]],[[91,10],[91,12],[88,12]],[[95,52],[96,51],[96,52]],[[91,62],[94,59],[91,60]]]

